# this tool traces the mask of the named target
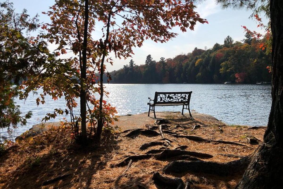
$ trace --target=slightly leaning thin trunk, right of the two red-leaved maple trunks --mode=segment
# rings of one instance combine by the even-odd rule
[[[108,20],[107,20],[107,29],[106,29],[106,39],[104,41],[104,46],[103,46],[103,55],[101,59],[101,64],[100,64],[100,99],[99,99],[99,119],[97,121],[97,132],[96,136],[97,139],[100,140],[101,133],[102,133],[102,128],[103,128],[103,114],[102,114],[102,101],[103,101],[103,74],[104,74],[104,60],[106,56],[106,47],[108,44],[108,38],[109,38],[109,28],[110,28],[110,18],[111,18],[111,12],[108,14]]]

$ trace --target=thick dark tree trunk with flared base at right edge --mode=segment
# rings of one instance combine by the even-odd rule
[[[264,141],[236,188],[283,186],[283,1],[271,0],[272,106]]]

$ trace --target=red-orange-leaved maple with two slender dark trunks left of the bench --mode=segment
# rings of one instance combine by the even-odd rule
[[[57,58],[51,58],[44,65],[45,73],[27,82],[31,84],[29,89],[34,88],[34,80],[39,83],[37,86],[43,86],[44,94],[38,99],[42,103],[46,94],[53,99],[65,96],[72,121],[81,123],[82,140],[87,139],[87,124],[91,128],[96,125],[93,131],[100,139],[103,126],[113,121],[115,113],[104,100],[105,63],[112,64],[109,54],[113,52],[117,58],[128,58],[133,54],[132,48],[142,46],[147,39],[164,43],[175,37],[177,33],[171,32],[175,26],[185,32],[187,28],[194,29],[197,22],[207,23],[195,8],[191,0],[56,0],[55,5],[44,12],[50,16],[51,23],[44,24],[42,29],[47,31],[45,39],[57,46]],[[97,28],[99,22],[102,28]],[[102,31],[101,37],[92,35],[96,30]],[[71,58],[61,56],[69,53]],[[107,76],[110,81],[111,76]],[[95,85],[97,80],[98,85]],[[95,93],[100,94],[99,99]],[[78,97],[80,113],[72,116]],[[63,110],[54,110],[46,119],[58,113],[62,114]]]

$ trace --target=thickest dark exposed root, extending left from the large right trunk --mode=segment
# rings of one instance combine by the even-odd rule
[[[236,173],[244,173],[248,164],[250,163],[251,156],[245,156],[239,160],[228,163],[216,163],[205,161],[174,161],[166,165],[163,169],[164,173],[204,173],[213,174],[217,176],[230,176]]]

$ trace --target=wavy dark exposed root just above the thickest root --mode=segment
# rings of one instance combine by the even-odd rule
[[[200,158],[212,158],[213,156],[210,154],[203,154],[199,152],[190,152],[185,150],[164,150],[160,154],[156,155],[157,160],[164,160],[168,158],[172,158],[174,156],[180,156],[180,155],[188,155],[188,156],[194,156],[194,157],[200,157]]]

